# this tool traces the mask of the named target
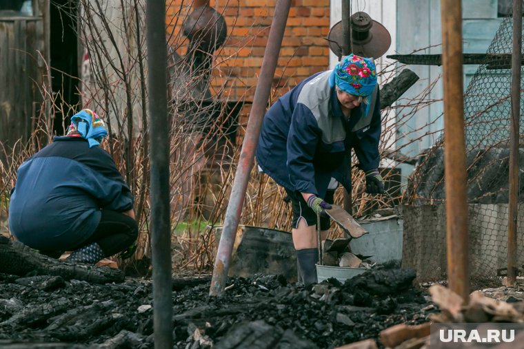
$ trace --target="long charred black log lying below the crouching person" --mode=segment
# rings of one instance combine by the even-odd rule
[[[0,236],[0,273],[35,276],[57,275],[64,280],[77,279],[92,284],[123,282],[123,271],[87,264],[71,264],[41,255],[34,249]]]

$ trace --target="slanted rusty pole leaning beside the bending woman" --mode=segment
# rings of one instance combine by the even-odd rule
[[[221,294],[225,287],[225,282],[228,279],[228,270],[233,251],[234,238],[236,237],[236,229],[238,229],[239,226],[245,190],[248,188],[248,180],[253,167],[256,145],[259,142],[262,120],[271,92],[274,71],[279,59],[280,47],[284,36],[285,23],[288,21],[290,6],[291,0],[276,1],[274,17],[268,36],[268,45],[265,47],[259,81],[256,84],[253,105],[242,143],[239,166],[236,168],[228,209],[225,211],[224,226],[220,237],[219,248],[218,251],[216,251],[210,295]]]

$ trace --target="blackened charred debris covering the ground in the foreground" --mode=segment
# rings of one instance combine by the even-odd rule
[[[437,311],[410,269],[368,271],[305,288],[283,277],[232,277],[210,297],[210,277],[174,279],[174,348],[336,348],[377,339]],[[152,281],[64,281],[0,275],[1,348],[153,348]],[[23,346],[25,343],[26,346]]]

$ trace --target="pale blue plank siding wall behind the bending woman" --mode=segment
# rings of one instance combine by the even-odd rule
[[[497,0],[463,0],[463,52],[485,53],[502,19],[497,18]],[[439,0],[397,0],[396,50],[399,54],[441,54],[441,7]],[[428,47],[428,48],[426,48]],[[432,81],[436,81],[442,68],[429,65],[407,65],[419,75],[420,80],[405,94],[414,98],[423,92]],[[464,90],[476,72],[476,65],[464,65]],[[437,81],[429,94],[430,99],[441,100],[442,83]],[[407,113],[405,110],[403,113]],[[397,130],[397,147],[407,144],[423,134],[443,129],[443,103],[432,103],[420,108],[414,118]],[[426,126],[427,125],[427,126]],[[414,131],[417,130],[417,131]],[[409,133],[409,135],[407,135]],[[439,138],[439,133],[421,138],[405,147],[403,153],[414,156],[427,149]]]

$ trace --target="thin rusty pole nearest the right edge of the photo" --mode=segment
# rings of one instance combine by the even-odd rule
[[[521,118],[522,1],[513,1],[512,117],[510,120],[510,195],[507,205],[507,281],[516,282],[518,143]]]

